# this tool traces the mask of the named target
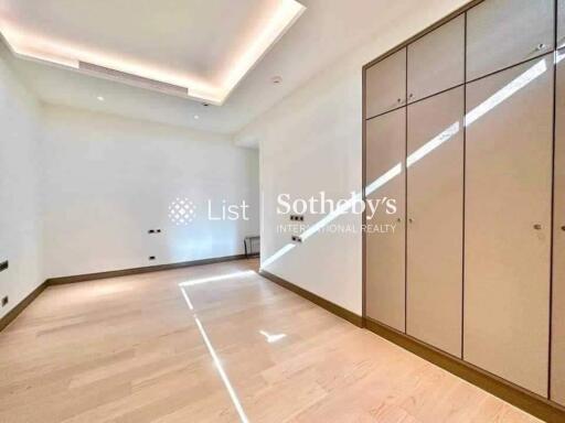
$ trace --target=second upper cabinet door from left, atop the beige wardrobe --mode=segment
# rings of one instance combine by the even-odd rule
[[[408,46],[408,102],[465,82],[465,15]]]

